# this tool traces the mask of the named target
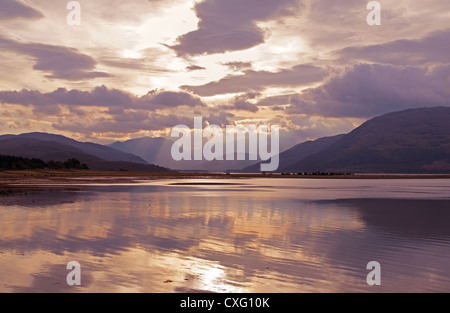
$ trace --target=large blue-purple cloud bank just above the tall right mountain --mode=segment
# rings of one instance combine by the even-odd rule
[[[303,94],[291,114],[371,118],[409,108],[450,106],[450,65],[436,68],[359,64]],[[280,99],[284,104],[286,99]]]

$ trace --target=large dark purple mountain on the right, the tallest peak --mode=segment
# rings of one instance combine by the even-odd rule
[[[447,107],[389,113],[282,171],[450,173],[449,121]]]

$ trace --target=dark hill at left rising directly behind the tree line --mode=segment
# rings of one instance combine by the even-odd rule
[[[28,135],[30,134],[0,136],[0,154],[24,158],[37,158],[46,162],[51,160],[66,161],[67,159],[75,158],[82,163],[86,163],[92,170],[167,171],[165,168],[149,165],[139,157],[109,147],[104,147],[103,149],[103,146],[101,145],[79,143],[75,140],[57,135],[43,134],[44,136],[42,137],[39,136],[40,134]],[[57,139],[58,141],[40,140],[36,139],[36,137],[47,138],[49,140]],[[62,142],[67,142],[71,145]],[[84,148],[84,150],[75,146]],[[96,155],[91,155],[86,151],[93,152],[96,155],[102,155],[102,153],[109,152],[110,155],[107,157],[108,160],[105,160]],[[139,162],[130,162],[127,160],[137,160]]]

